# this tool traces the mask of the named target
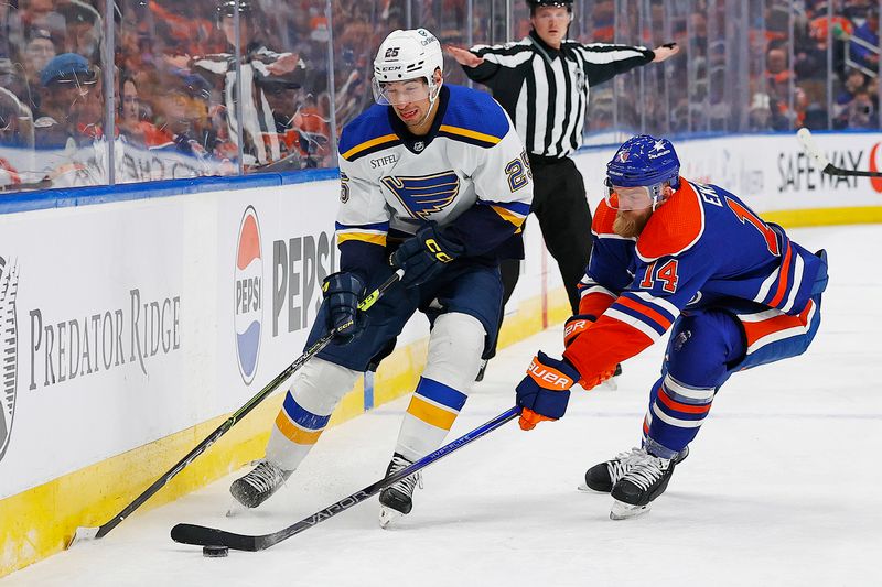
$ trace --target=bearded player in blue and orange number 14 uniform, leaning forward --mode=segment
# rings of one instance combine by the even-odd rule
[[[820,325],[825,251],[679,167],[665,139],[634,137],[615,153],[563,358],[539,351],[517,388],[530,430],[564,414],[574,383],[593,388],[670,330],[641,446],[585,474],[588,488],[612,493],[613,519],[645,512],[665,491],[733,372],[800,355]]]

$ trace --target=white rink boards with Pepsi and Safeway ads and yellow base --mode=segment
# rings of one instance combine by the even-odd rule
[[[879,133],[818,141],[841,166],[878,169]],[[613,152],[577,157],[592,207]],[[821,176],[790,135],[684,141],[678,152],[684,175],[730,188],[768,220],[882,221],[882,185]],[[62,550],[77,525],[106,521],[301,351],[321,279],[337,263],[336,182],[205,182],[212,191],[166,182],[119,197],[4,196],[3,209],[30,211],[0,215],[0,576]],[[503,344],[568,314],[534,218],[526,238]],[[412,390],[427,333],[424,318],[411,320],[367,393],[359,381],[333,422]],[[146,508],[258,457],[280,401]]]

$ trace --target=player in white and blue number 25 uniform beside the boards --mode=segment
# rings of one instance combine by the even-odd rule
[[[429,31],[395,31],[374,62],[374,96],[340,140],[340,272],[306,346],[352,323],[300,371],[276,418],[266,457],[230,492],[269,498],[319,439],[358,374],[375,370],[417,311],[429,318],[427,366],[405,414],[387,475],[434,450],[463,407],[502,309],[499,260],[529,214],[533,178],[510,119],[486,94],[443,83]],[[391,264],[390,264],[391,263]],[[366,292],[404,269],[370,309]],[[353,343],[355,340],[355,343]],[[380,493],[380,523],[412,508],[419,474]]]

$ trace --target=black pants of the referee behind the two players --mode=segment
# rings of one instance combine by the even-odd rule
[[[550,159],[530,155],[533,169],[533,214],[539,220],[548,252],[558,262],[563,286],[573,314],[579,313],[577,285],[591,257],[591,209],[585,185],[576,163],[569,157]],[[506,259],[503,274],[503,306],[512,297],[520,274],[520,261]],[[499,314],[502,326],[503,314]],[[485,358],[492,358],[492,349]]]

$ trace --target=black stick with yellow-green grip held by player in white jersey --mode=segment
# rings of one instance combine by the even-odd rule
[[[384,293],[386,293],[386,291],[389,287],[391,287],[395,283],[397,283],[404,276],[404,274],[405,271],[402,269],[397,270],[391,276],[389,276],[389,279],[383,282],[379,287],[370,292],[370,294],[368,294],[367,297],[365,297],[358,303],[358,309],[363,312],[367,311],[370,306],[373,306],[377,302],[377,300],[379,300],[383,296]],[[254,410],[255,406],[257,406],[257,404],[262,402],[270,393],[276,391],[276,388],[281,385],[286,379],[288,379],[289,377],[291,377],[291,374],[293,374],[294,371],[303,367],[303,365],[308,360],[313,358],[315,355],[319,354],[320,350],[326,347],[329,343],[331,343],[331,339],[334,338],[337,335],[337,333],[345,326],[346,325],[343,325],[331,330],[330,333],[321,337],[319,340],[313,343],[313,345],[310,348],[303,351],[303,355],[298,357],[294,360],[294,362],[286,367],[286,369],[281,373],[276,376],[276,379],[267,383],[267,385],[263,389],[261,389],[257,393],[257,395],[248,400],[248,402],[245,405],[236,410],[236,412],[234,412],[233,415],[230,415],[226,421],[224,421],[224,423],[220,424],[220,426],[218,426],[213,433],[211,433],[204,441],[197,444],[196,447],[193,448],[193,450],[191,450],[190,453],[187,453],[184,458],[179,460],[174,467],[169,469],[162,477],[153,481],[153,485],[148,487],[143,493],[135,498],[135,501],[126,506],[121,512],[119,512],[114,518],[111,518],[110,520],[108,520],[98,528],[86,528],[86,526],[77,528],[73,539],[71,539],[68,548],[79,541],[104,537],[108,532],[114,530],[117,526],[117,524],[119,524],[122,520],[128,518],[129,514],[131,514],[131,512],[137,510],[144,501],[150,499],[153,496],[153,493],[162,489],[162,487],[165,483],[168,483],[172,479],[172,477],[181,472],[184,469],[184,467],[190,465],[193,461],[193,459],[203,454],[206,448],[212,446],[220,436],[226,434],[226,432],[229,428],[232,428],[239,420],[245,417],[245,415],[248,414],[248,412]]]

